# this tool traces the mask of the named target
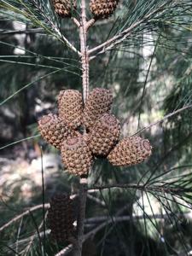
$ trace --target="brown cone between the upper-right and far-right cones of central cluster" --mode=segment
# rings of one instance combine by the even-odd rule
[[[119,134],[119,120],[113,114],[104,113],[90,131],[90,150],[96,155],[107,155],[119,141]]]

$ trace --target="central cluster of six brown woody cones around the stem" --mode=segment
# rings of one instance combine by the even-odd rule
[[[147,139],[119,140],[119,120],[110,113],[112,102],[110,90],[102,88],[92,90],[85,104],[78,90],[61,90],[58,115],[49,113],[38,120],[42,137],[61,150],[69,173],[86,177],[96,157],[108,158],[113,166],[131,166],[151,154]]]

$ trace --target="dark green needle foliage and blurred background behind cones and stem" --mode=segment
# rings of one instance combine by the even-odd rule
[[[87,10],[91,17],[88,1]],[[79,11],[73,15],[79,19]],[[1,0],[0,19],[0,255],[51,256],[67,244],[50,239],[42,209],[55,193],[75,194],[78,179],[38,137],[37,120],[57,113],[60,90],[82,91],[79,57],[62,38],[79,49],[79,32],[72,20],[55,16],[48,0]],[[85,233],[97,230],[83,255],[192,254],[191,108],[140,132],[192,104],[191,1],[120,1],[113,17],[90,28],[89,48],[139,20],[120,44],[92,55],[90,90],[113,91],[122,137],[139,132],[153,154],[129,168],[96,160],[90,188],[128,188],[90,190]]]

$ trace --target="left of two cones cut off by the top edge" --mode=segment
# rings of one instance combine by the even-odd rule
[[[76,9],[76,3],[70,0],[52,0],[55,12],[62,18],[70,18],[73,9]]]

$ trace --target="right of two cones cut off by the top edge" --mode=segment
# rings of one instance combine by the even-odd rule
[[[119,0],[91,0],[90,11],[96,19],[108,19],[113,15]]]

